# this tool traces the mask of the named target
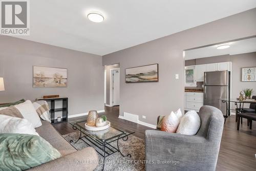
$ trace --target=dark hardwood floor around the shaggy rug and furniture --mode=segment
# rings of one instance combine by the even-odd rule
[[[151,129],[150,127],[118,118],[118,107],[105,106],[105,112],[99,115],[106,115],[113,126],[127,132],[135,132],[133,135],[141,139],[144,139],[145,130]],[[69,121],[86,117],[87,116],[70,118]],[[74,132],[69,123],[57,123],[54,124],[54,127],[61,135]],[[224,125],[216,170],[256,170],[255,154],[256,122],[252,122],[252,130],[249,130],[247,120],[243,119],[240,131],[237,131],[234,116],[228,117]]]

